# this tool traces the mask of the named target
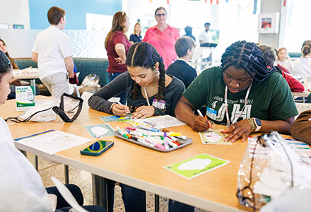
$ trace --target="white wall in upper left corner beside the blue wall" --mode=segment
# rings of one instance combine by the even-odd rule
[[[30,29],[28,0],[0,0],[0,23],[8,23],[9,29],[13,24],[24,25],[24,29]]]

